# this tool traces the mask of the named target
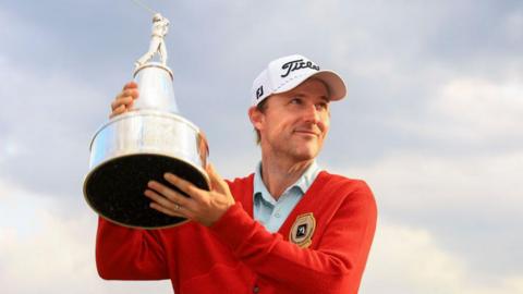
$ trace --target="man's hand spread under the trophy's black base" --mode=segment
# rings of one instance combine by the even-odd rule
[[[208,164],[206,170],[210,179],[210,192],[200,189],[172,173],[163,175],[169,183],[187,194],[188,198],[166,185],[150,181],[144,193],[153,200],[150,207],[171,217],[187,218],[206,226],[211,225],[234,205],[234,198],[229,185],[212,166]]]

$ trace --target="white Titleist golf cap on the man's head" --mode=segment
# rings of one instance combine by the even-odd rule
[[[291,90],[312,76],[327,85],[330,100],[341,100],[345,97],[345,83],[337,73],[320,71],[319,66],[306,57],[293,54],[269,62],[267,69],[254,79],[253,106],[257,106],[272,94]]]

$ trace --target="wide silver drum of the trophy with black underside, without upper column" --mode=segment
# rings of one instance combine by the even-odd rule
[[[205,136],[184,118],[155,110],[131,111],[96,132],[84,195],[98,215],[124,226],[178,225],[186,219],[149,207],[150,199],[144,195],[147,182],[155,180],[169,186],[163,174],[171,172],[209,189],[204,170],[207,156]]]

